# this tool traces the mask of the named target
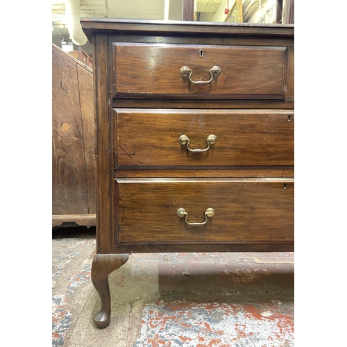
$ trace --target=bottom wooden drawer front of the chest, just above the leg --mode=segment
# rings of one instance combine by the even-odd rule
[[[294,242],[289,178],[124,178],[115,180],[115,189],[119,244]],[[188,223],[207,222],[189,225],[178,216],[180,208]],[[213,217],[205,217],[209,208]]]

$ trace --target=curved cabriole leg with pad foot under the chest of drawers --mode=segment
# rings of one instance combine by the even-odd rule
[[[111,296],[108,275],[119,269],[129,258],[128,254],[96,254],[92,263],[92,283],[101,300],[101,307],[93,316],[97,328],[105,328],[110,324]]]

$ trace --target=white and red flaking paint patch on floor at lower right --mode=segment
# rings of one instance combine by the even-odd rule
[[[283,347],[294,346],[294,316],[276,313],[278,305],[189,303],[158,301],[147,304],[133,347]],[[285,345],[286,344],[286,345]]]

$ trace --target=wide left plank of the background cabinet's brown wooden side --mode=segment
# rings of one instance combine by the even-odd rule
[[[77,66],[74,58],[52,46],[52,213],[55,215],[90,213]],[[90,78],[92,82],[92,74]]]

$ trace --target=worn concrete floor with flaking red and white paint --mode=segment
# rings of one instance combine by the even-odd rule
[[[95,328],[95,228],[52,232],[52,346],[293,347],[294,253],[130,255]]]

